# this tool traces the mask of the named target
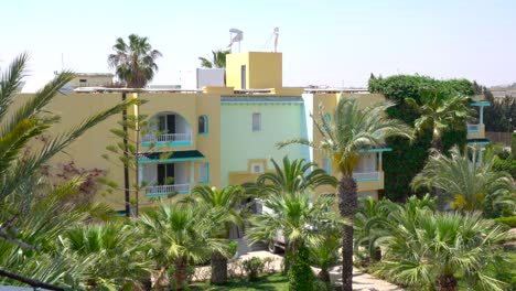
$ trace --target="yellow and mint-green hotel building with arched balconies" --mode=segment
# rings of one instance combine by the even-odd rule
[[[22,95],[28,97],[29,95]],[[50,111],[61,116],[56,132],[77,125],[88,116],[114,106],[122,98],[140,98],[147,103],[129,108],[128,114],[146,115],[153,129],[165,132],[132,137],[140,143],[139,183],[146,188],[139,195],[139,205],[149,206],[152,198],[169,193],[189,194],[196,185],[223,187],[254,181],[259,174],[272,170],[270,159],[280,161],[284,155],[313,161],[331,174],[337,171],[330,160],[303,146],[279,150],[276,143],[303,137],[318,142],[319,132],[310,117],[322,104],[333,112],[340,98],[355,98],[361,107],[384,100],[383,95],[364,90],[303,89],[282,86],[281,53],[237,53],[227,55],[226,86],[204,87],[198,90],[162,89],[139,93],[130,89],[77,88],[58,95]],[[471,139],[484,139],[483,106],[479,125],[469,126]],[[331,118],[331,116],[329,116]],[[71,160],[79,168],[101,169],[117,182],[119,190],[97,197],[116,211],[126,211],[125,171],[101,158],[106,147],[119,140],[109,131],[120,128],[121,116],[111,117],[86,132],[54,164]],[[149,146],[157,144],[150,151]],[[377,197],[384,188],[383,153],[389,149],[373,149],[362,153],[354,176],[362,195]],[[160,159],[161,152],[172,152]],[[129,184],[136,183],[129,173]],[[318,193],[334,192],[333,188]],[[129,193],[131,198],[133,194]],[[316,193],[314,193],[316,196]]]

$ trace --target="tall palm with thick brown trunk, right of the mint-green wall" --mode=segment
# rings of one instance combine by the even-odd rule
[[[352,290],[353,218],[358,203],[353,170],[358,160],[359,151],[381,147],[388,137],[411,138],[411,130],[408,126],[397,119],[388,118],[385,114],[385,110],[393,106],[393,103],[384,103],[358,109],[358,103],[355,99],[341,98],[335,108],[334,118],[331,120],[326,118],[321,106],[320,119],[313,120],[322,137],[319,144],[305,139],[293,139],[279,143],[280,148],[292,143],[313,147],[330,157],[341,172],[338,209],[341,215],[350,222],[350,225],[344,226],[343,231],[342,277],[344,290]]]

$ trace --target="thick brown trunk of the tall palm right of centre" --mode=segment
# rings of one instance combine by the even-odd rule
[[[344,175],[338,184],[338,211],[351,225],[342,234],[342,290],[353,290],[353,218],[358,205],[356,182],[352,175]]]

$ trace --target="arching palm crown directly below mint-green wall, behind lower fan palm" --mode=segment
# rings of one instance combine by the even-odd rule
[[[283,158],[282,168],[273,160],[275,172],[264,173],[255,183],[246,183],[244,187],[248,193],[259,197],[281,195],[288,193],[310,192],[323,185],[336,185],[336,179],[329,175],[322,169],[313,169],[315,163],[309,163],[304,159],[290,161]]]

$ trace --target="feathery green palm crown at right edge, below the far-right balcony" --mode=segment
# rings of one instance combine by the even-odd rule
[[[470,158],[470,155],[472,158]],[[476,160],[475,151],[461,153],[453,147],[450,157],[437,151],[412,181],[412,187],[434,187],[452,200],[452,208],[487,211],[501,205],[514,206],[514,181],[508,173],[493,170],[494,155]]]

